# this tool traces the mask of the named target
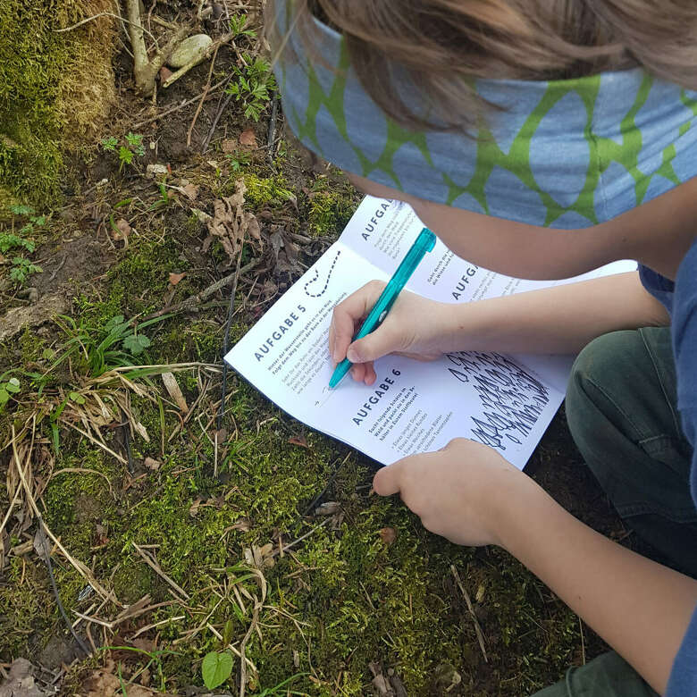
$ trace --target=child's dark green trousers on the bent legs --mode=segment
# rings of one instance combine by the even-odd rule
[[[684,573],[697,577],[692,448],[680,426],[668,328],[612,332],[576,359],[567,419],[585,462],[631,527]],[[609,652],[536,697],[655,697]]]

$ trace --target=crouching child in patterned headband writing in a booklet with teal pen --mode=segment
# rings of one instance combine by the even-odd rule
[[[525,278],[638,260],[638,273],[463,306],[404,293],[352,343],[382,288],[370,283],[335,308],[330,351],[371,384],[390,352],[583,348],[567,392],[575,441],[627,524],[685,574],[594,533],[474,441],[385,467],[374,489],[453,542],[507,549],[617,650],[544,697],[694,697],[697,5],[276,0],[271,12],[298,138],[359,189],[407,201],[458,256]]]

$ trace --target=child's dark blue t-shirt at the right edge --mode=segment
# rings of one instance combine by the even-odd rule
[[[673,352],[676,358],[677,408],[683,431],[693,445],[690,491],[697,506],[697,239],[684,256],[676,281],[640,267],[642,283],[672,317]],[[694,541],[697,545],[697,540]],[[668,680],[666,697],[697,695],[697,609],[677,652]]]

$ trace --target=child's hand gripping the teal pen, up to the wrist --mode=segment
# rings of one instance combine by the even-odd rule
[[[384,322],[363,339],[353,341],[382,290],[382,281],[370,281],[334,307],[329,328],[329,352],[334,365],[345,357],[355,364],[351,375],[358,382],[375,382],[373,361],[390,353],[434,360],[442,355],[452,307],[403,290]]]

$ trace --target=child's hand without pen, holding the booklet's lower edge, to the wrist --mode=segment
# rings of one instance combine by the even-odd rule
[[[399,493],[427,530],[468,546],[500,545],[510,497],[541,491],[496,450],[466,438],[382,467],[373,487]]]

